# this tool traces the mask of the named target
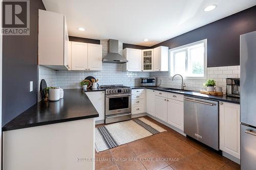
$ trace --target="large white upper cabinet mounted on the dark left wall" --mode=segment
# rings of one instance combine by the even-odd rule
[[[68,70],[68,29],[64,15],[38,10],[38,64]]]

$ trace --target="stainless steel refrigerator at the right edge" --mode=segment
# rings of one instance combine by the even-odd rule
[[[256,31],[240,36],[241,169],[256,169]]]

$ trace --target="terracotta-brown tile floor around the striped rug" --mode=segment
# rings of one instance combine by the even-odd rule
[[[240,169],[240,165],[145,116],[167,132],[96,153],[95,169]],[[99,125],[101,126],[101,125]],[[98,126],[97,126],[98,127]]]

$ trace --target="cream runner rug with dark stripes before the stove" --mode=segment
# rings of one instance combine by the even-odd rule
[[[101,126],[95,131],[95,149],[105,151],[164,131],[144,117]]]

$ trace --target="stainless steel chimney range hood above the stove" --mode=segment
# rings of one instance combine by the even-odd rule
[[[102,59],[104,63],[126,63],[123,56],[118,53],[118,40],[109,39],[108,40],[108,54]]]

